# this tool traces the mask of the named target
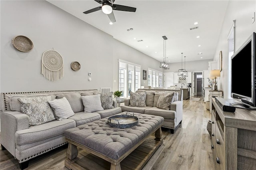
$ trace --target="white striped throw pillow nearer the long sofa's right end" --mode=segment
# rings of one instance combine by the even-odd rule
[[[82,96],[81,98],[83,101],[85,113],[104,110],[101,106],[100,95]]]

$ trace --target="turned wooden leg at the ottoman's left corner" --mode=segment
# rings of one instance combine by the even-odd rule
[[[68,143],[67,158],[65,160],[65,166],[68,169],[71,169],[71,164],[76,160],[78,160],[77,156],[78,156],[78,150],[76,145],[72,143]]]

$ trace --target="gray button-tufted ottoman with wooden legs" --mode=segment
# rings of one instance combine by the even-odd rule
[[[117,114],[125,115],[126,112]],[[111,163],[111,170],[120,170],[120,162],[155,132],[155,140],[162,144],[164,118],[154,115],[134,113],[139,118],[138,125],[130,128],[116,128],[108,125],[108,117],[70,128],[65,131],[69,142],[65,166],[76,169],[77,146]],[[158,146],[158,147],[159,147]],[[158,148],[156,147],[156,149]]]

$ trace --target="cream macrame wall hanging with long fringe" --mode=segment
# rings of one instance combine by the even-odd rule
[[[54,49],[43,53],[42,75],[50,81],[58,81],[63,77],[63,59]]]

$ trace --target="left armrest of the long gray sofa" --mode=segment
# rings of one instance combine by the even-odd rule
[[[15,157],[15,133],[28,128],[28,115],[17,111],[1,111],[0,120],[0,143]]]

